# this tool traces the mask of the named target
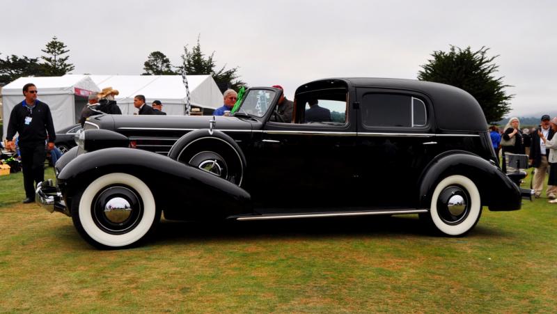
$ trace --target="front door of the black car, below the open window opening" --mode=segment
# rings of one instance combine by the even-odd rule
[[[346,99],[321,104],[329,104],[336,122],[305,123],[298,115],[297,123],[269,120],[262,126],[254,145],[257,158],[249,165],[257,169],[250,180],[255,182],[250,192],[256,207],[323,211],[352,205],[356,126],[346,120]],[[304,108],[298,112],[303,114]]]

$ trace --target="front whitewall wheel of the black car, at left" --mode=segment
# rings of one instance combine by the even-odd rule
[[[159,219],[149,187],[127,173],[97,178],[72,201],[74,226],[84,240],[100,249],[136,244]]]

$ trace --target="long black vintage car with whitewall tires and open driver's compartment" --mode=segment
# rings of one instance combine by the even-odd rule
[[[166,219],[296,219],[419,214],[461,236],[489,210],[519,210],[483,111],[468,93],[403,79],[249,88],[224,116],[93,116],[37,199],[97,247],[128,246]],[[306,122],[308,104],[329,113]]]

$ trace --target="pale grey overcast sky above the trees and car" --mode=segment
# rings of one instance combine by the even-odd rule
[[[325,77],[416,79],[433,51],[486,46],[514,86],[510,115],[557,113],[557,1],[3,0],[0,12],[2,56],[40,56],[57,36],[73,74],[141,74],[150,52],[177,65],[201,35],[217,65],[290,98]]]

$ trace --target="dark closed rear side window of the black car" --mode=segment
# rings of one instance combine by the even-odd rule
[[[368,93],[361,100],[364,127],[423,127],[425,103],[409,95]]]

